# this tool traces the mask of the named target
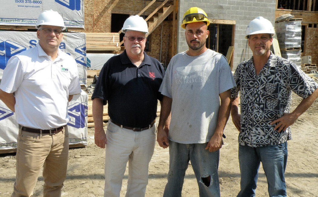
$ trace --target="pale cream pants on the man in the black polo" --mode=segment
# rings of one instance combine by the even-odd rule
[[[105,146],[104,197],[119,197],[128,162],[126,197],[144,197],[148,184],[148,167],[154,153],[156,124],[135,132],[108,121]]]

